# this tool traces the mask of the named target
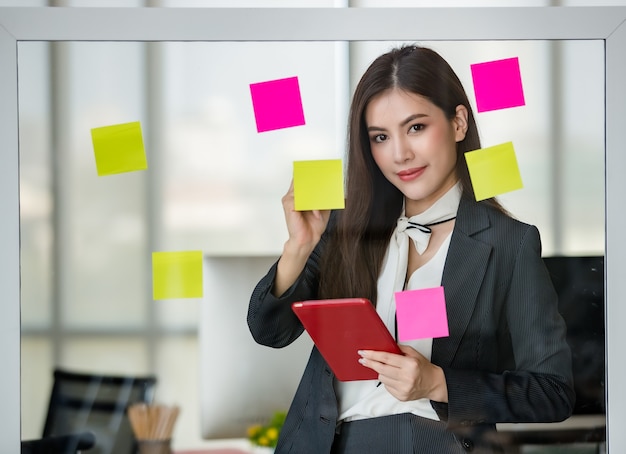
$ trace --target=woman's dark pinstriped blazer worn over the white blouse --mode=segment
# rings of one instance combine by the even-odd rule
[[[276,264],[257,284],[248,325],[258,343],[283,347],[303,332],[290,305],[317,297],[325,243],[322,237],[301,276],[279,298],[271,293]],[[463,197],[442,285],[450,335],[433,340],[431,359],[444,369],[448,386],[449,403],[432,402],[442,430],[458,435],[459,446],[467,442],[475,452],[497,452],[496,423],[569,417],[575,399],[571,352],[536,227]],[[313,348],[277,454],[330,452],[338,416],[333,378]],[[458,446],[442,451],[431,441],[437,452],[457,452]]]

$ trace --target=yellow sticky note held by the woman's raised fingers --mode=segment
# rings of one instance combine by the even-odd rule
[[[345,208],[341,159],[294,161],[293,196],[296,211]]]

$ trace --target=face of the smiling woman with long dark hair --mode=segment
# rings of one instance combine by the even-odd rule
[[[404,194],[407,216],[426,210],[454,186],[456,142],[467,131],[464,106],[450,120],[426,98],[393,88],[370,100],[365,122],[374,161]]]

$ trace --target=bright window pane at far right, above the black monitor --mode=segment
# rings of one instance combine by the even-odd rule
[[[626,2],[623,2],[626,4]],[[561,43],[559,84],[562,134],[559,166],[563,206],[562,251],[604,251],[604,52],[602,42]],[[584,58],[581,56],[584,55]],[[583,61],[584,60],[584,61]]]

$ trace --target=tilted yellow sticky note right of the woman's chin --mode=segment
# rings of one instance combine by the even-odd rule
[[[523,187],[513,142],[468,151],[465,159],[477,201]]]

